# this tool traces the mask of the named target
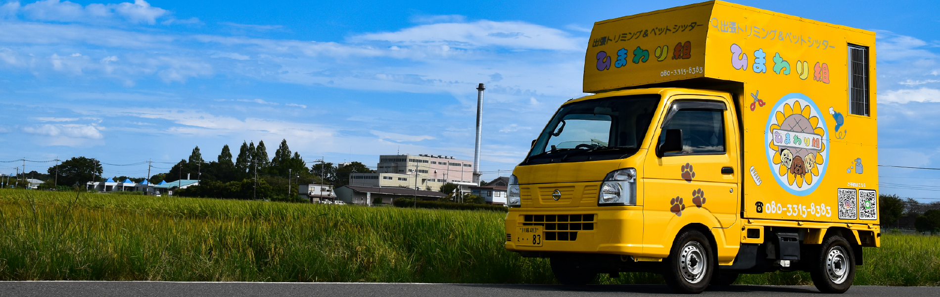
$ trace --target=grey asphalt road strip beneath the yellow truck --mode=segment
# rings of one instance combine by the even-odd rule
[[[807,286],[713,287],[704,296],[819,296]],[[676,295],[665,285],[462,285],[381,283],[0,282],[0,296],[643,296]],[[855,286],[840,296],[940,296],[940,287]]]

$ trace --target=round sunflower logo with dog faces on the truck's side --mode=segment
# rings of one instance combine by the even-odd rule
[[[808,195],[825,174],[829,141],[820,110],[806,96],[791,93],[776,103],[767,120],[767,154],[776,180],[795,195]]]

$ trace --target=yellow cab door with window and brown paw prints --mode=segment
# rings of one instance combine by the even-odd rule
[[[644,164],[643,242],[644,251],[659,247],[668,254],[677,225],[691,223],[683,216],[702,218],[697,223],[708,227],[734,225],[742,173],[737,116],[728,99],[673,96],[666,106]],[[658,156],[670,129],[682,131],[682,150]]]

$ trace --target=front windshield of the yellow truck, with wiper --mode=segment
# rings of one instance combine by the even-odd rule
[[[639,149],[659,95],[574,102],[558,109],[523,164],[619,159]]]

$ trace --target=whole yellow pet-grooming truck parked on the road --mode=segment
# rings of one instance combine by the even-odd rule
[[[558,281],[852,285],[879,246],[875,34],[709,1],[594,23],[584,92],[509,184],[506,248]]]

